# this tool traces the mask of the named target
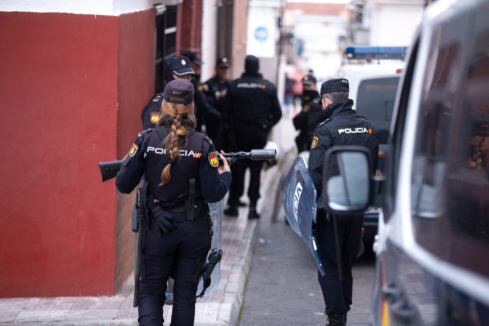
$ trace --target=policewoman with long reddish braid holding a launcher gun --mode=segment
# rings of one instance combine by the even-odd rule
[[[196,292],[211,245],[207,202],[221,200],[231,184],[212,141],[193,130],[194,87],[177,79],[164,90],[156,129],[141,131],[117,174],[129,194],[144,174],[149,181],[139,285],[139,325],[162,325],[168,277],[175,279],[171,325],[193,325]],[[193,302],[192,302],[193,301]]]

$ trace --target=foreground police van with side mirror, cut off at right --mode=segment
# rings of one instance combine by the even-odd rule
[[[489,325],[489,1],[430,4],[414,40],[384,178],[362,148],[330,149],[323,204],[382,206],[373,325]]]

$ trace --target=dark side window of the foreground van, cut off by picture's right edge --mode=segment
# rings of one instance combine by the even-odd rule
[[[489,23],[478,24],[457,116],[443,242],[447,261],[489,277]]]

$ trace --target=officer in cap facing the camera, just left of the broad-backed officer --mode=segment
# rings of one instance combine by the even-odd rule
[[[222,134],[226,134],[229,128],[227,112],[224,110],[223,103],[230,83],[230,80],[227,78],[229,67],[227,58],[218,59],[216,62],[216,75],[201,85],[209,104],[213,108],[216,108],[222,115],[222,121],[207,121],[205,126],[215,132],[215,137],[212,139],[216,142],[216,148],[218,150],[224,149],[225,151],[230,151],[229,144],[227,144],[229,138],[222,137]]]

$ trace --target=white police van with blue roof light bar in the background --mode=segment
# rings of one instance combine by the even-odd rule
[[[366,117],[378,129],[378,174],[383,173],[387,138],[391,125],[394,101],[399,78],[404,68],[404,46],[349,46],[344,51],[345,65],[338,71],[338,78],[346,78],[350,84],[353,109]],[[365,212],[363,240],[374,242],[378,227],[377,207]]]

